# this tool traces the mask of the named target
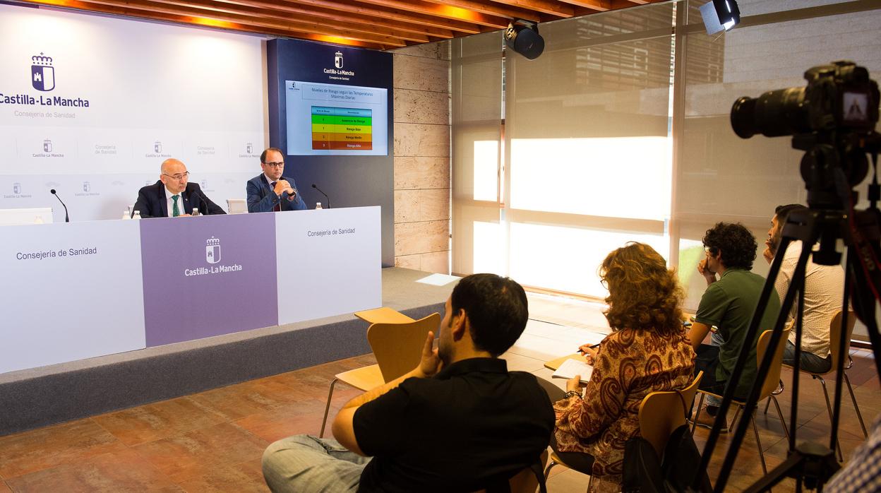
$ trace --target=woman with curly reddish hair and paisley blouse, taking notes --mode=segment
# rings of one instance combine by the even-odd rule
[[[642,399],[691,384],[694,350],[682,324],[682,288],[652,247],[627,243],[612,251],[600,277],[612,332],[597,350],[581,347],[593,376],[583,399],[579,377],[566,382],[566,398],[554,404],[552,447],[564,461],[592,462],[591,491],[620,491],[624,445],[640,434]],[[567,452],[589,454],[588,464]]]

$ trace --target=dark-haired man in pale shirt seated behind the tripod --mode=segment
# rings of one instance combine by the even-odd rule
[[[783,226],[790,213],[806,210],[807,207],[800,204],[779,205],[774,210],[774,218],[771,219],[771,228],[768,229],[768,238],[765,241],[766,249],[762,257],[771,263],[780,247]],[[802,251],[802,242],[789,243],[774,288],[781,297],[786,295],[789,283],[792,282],[792,274],[796,270],[798,255]],[[832,368],[832,355],[829,345],[829,324],[835,313],[841,310],[841,300],[844,293],[844,269],[840,265],[818,265],[813,258],[808,262],[804,273],[804,317],[802,327],[802,356],[801,367],[803,370],[814,373],[825,373]],[[796,316],[798,303],[793,303],[790,317]],[[789,340],[783,352],[783,362],[793,365],[796,362],[796,331],[789,333]]]

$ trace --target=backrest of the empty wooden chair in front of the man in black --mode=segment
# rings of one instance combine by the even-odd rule
[[[416,368],[428,331],[437,331],[438,325],[441,325],[439,313],[408,324],[370,325],[367,328],[367,342],[374,350],[382,379],[390,382]]]

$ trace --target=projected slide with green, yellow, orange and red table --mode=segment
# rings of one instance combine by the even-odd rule
[[[285,81],[287,153],[389,154],[389,92],[384,88]]]

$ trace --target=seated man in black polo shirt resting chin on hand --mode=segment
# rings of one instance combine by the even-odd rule
[[[506,485],[547,448],[553,409],[536,377],[498,356],[520,337],[526,294],[474,274],[447,300],[438,349],[416,369],[350,400],[337,440],[300,435],[263,453],[273,491],[476,491]]]

